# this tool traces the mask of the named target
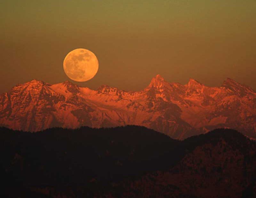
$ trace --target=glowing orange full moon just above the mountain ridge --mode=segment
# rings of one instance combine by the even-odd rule
[[[99,61],[92,51],[79,48],[67,54],[63,61],[63,69],[70,79],[84,82],[96,75]]]

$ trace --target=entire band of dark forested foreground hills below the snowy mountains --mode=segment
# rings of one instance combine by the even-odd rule
[[[255,197],[255,142],[230,129],[184,141],[138,126],[0,128],[5,197]]]

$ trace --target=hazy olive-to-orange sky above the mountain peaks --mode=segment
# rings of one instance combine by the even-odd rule
[[[63,60],[76,48],[98,57],[97,75],[77,83],[91,89],[142,90],[160,74],[256,90],[256,0],[2,0],[0,29],[0,92],[69,80]]]

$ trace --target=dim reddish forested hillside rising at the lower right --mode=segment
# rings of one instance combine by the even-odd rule
[[[255,197],[256,144],[237,131],[217,129],[181,142],[186,154],[169,170],[118,183],[113,197]]]

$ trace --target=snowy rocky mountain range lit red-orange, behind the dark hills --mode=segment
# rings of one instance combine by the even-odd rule
[[[102,85],[98,90],[70,82],[32,80],[0,95],[0,125],[24,131],[142,125],[175,139],[219,127],[256,138],[256,93],[232,79],[207,87],[194,79],[185,85],[156,75],[144,90]],[[243,129],[243,130],[242,130]]]

